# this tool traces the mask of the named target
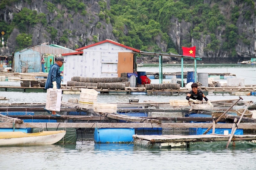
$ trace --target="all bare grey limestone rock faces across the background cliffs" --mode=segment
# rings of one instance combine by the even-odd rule
[[[57,44],[67,48],[76,49],[105,39],[117,41],[117,38],[112,33],[113,28],[109,20],[100,17],[102,8],[104,8],[102,7],[102,2],[106,3],[107,9],[110,9],[110,0],[83,0],[86,14],[82,14],[81,11],[67,9],[61,3],[54,7],[55,10],[51,11],[49,5],[47,5],[48,2],[52,1],[13,1],[13,3],[6,5],[4,9],[0,10],[0,19],[4,20],[7,24],[10,24],[13,20],[14,13],[19,13],[25,7],[30,10],[36,10],[37,13],[44,13],[46,15],[47,23],[37,23],[35,26],[27,27],[28,33],[32,34],[32,45],[49,42],[49,44]],[[204,3],[214,6],[216,1],[204,0]],[[224,33],[228,31],[226,27],[219,26],[216,29],[215,37],[220,46],[212,50],[212,48],[208,48],[208,45],[213,41],[210,33],[201,33],[199,38],[194,38],[191,36],[191,32],[195,28],[195,23],[193,21],[186,22],[172,17],[169,20],[170,27],[166,33],[174,42],[177,52],[182,54],[181,47],[184,46],[184,40],[186,40],[191,46],[196,46],[196,56],[203,57],[205,63],[224,62],[225,60],[231,60],[233,63],[236,63],[238,60],[242,61],[250,59],[251,57],[256,57],[255,4],[230,0],[218,1],[218,5],[221,14],[225,16],[227,20],[231,20],[231,10],[234,5],[239,6],[239,9],[241,9],[241,11],[239,11],[239,16],[237,16],[237,20],[234,22],[234,25],[238,28],[235,55],[232,55],[230,51],[221,49],[221,46],[223,46],[228,39],[223,36]],[[248,10],[252,15],[249,17],[247,16],[246,19],[246,12]],[[107,16],[107,18],[109,19],[109,16]],[[54,38],[51,37],[49,31],[50,28],[57,30]],[[124,28],[126,28],[126,26],[124,26]],[[1,31],[2,30],[0,30],[0,32]],[[124,32],[128,33],[128,30],[124,29]],[[17,50],[17,42],[15,39],[19,34],[19,29],[14,28],[12,30],[8,39],[5,40],[4,47],[1,48],[0,55],[10,55]],[[68,39],[65,43],[61,41],[61,38],[64,35],[66,35]],[[162,41],[160,36],[154,37],[154,42],[161,50],[158,52],[166,52],[167,42]],[[218,44],[216,46],[218,46]],[[152,61],[157,62],[158,57],[155,57]],[[163,61],[169,62],[170,59],[167,57],[164,58]]]

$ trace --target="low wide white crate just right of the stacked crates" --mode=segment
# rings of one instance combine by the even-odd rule
[[[113,104],[113,103],[93,103],[93,111],[94,112],[102,112],[102,113],[116,113],[117,104]]]

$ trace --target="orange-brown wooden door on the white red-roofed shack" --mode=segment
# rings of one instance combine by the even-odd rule
[[[118,52],[117,74],[121,77],[121,73],[133,73],[133,53]]]

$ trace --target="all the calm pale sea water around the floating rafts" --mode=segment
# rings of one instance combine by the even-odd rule
[[[158,64],[144,64],[138,71],[158,72]],[[180,65],[164,65],[163,72],[179,72]],[[194,71],[186,65],[184,71]],[[256,65],[197,64],[197,72],[236,74],[245,84],[256,84]],[[153,83],[159,82],[155,79]],[[226,80],[220,80],[226,81]],[[0,82],[20,86],[20,82]],[[46,93],[0,92],[10,100],[1,103],[44,103]],[[79,99],[79,94],[63,94],[63,101]],[[256,96],[242,96],[256,102]],[[186,95],[99,94],[98,102],[128,102],[129,98],[168,102]],[[209,94],[209,100],[238,99],[229,94]],[[22,147],[1,147],[1,169],[256,169],[256,148],[145,149],[133,144],[94,144],[93,142]]]

